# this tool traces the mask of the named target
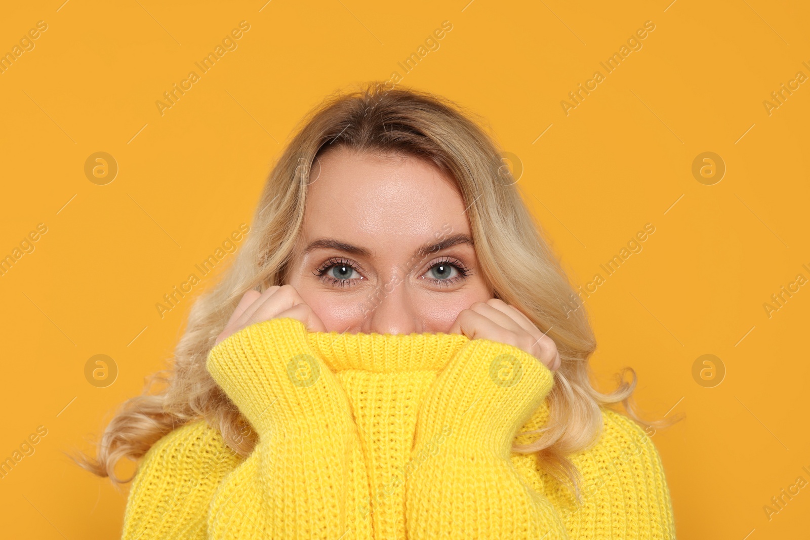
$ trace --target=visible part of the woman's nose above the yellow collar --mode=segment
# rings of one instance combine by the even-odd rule
[[[411,334],[420,331],[419,313],[414,313],[412,296],[409,294],[407,279],[409,276],[399,266],[378,283],[372,298],[364,306],[364,332],[377,334]]]

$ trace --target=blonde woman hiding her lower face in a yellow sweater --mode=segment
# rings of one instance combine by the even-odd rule
[[[590,385],[585,310],[469,116],[372,83],[305,118],[165,388],[82,460],[143,457],[122,538],[675,538],[667,423],[634,372]]]

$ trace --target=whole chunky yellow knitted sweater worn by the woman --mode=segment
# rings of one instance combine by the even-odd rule
[[[553,373],[461,334],[309,332],[277,318],[217,344],[206,368],[256,431],[248,457],[204,419],[154,444],[123,540],[675,538],[663,467],[636,423],[570,458],[583,503],[535,454]]]

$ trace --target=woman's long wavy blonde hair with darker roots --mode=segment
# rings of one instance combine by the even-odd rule
[[[580,497],[582,482],[567,456],[587,449],[602,430],[600,406],[621,402],[627,415],[646,429],[669,421],[644,421],[632,393],[633,368],[623,368],[620,385],[599,393],[590,384],[589,357],[596,348],[586,310],[569,283],[542,229],[522,200],[520,184],[505,166],[505,153],[480,117],[445,98],[390,82],[366,83],[360,90],[336,92],[313,108],[272,168],[254,213],[252,227],[232,266],[194,302],[185,334],[170,368],[147,377],[143,394],[124,402],[97,442],[97,457],[72,457],[79,466],[117,487],[113,469],[122,457],[139,460],[161,437],[197,419],[217,427],[225,444],[248,456],[253,430],[206,371],[208,351],[246,291],[283,285],[304,218],[307,185],[315,160],[336,147],[424,159],[454,179],[461,193],[480,270],[495,296],[518,308],[556,343],[562,364],[548,395],[549,421],[531,433],[532,444],[516,453],[538,453],[539,464]],[[624,381],[625,372],[633,381]],[[157,388],[157,390],[154,390]],[[245,436],[247,433],[247,436]],[[137,473],[137,470],[136,470]]]

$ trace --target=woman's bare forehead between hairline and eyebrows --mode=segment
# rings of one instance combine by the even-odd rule
[[[313,164],[310,182],[305,240],[330,236],[377,251],[424,244],[448,224],[453,234],[470,233],[454,182],[423,159],[339,148]]]

